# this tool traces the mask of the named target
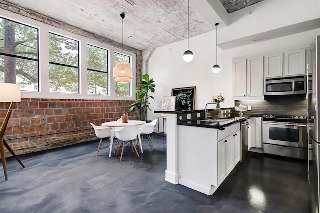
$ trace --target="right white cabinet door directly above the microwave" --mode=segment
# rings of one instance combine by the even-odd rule
[[[284,52],[283,73],[285,76],[306,74],[305,48]]]

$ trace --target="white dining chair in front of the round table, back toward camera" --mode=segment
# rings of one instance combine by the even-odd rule
[[[120,148],[122,147],[122,151],[121,151],[121,157],[120,157],[120,161],[122,161],[122,157],[123,157],[123,151],[124,151],[124,146],[130,146],[132,151],[135,153],[138,157],[140,157],[138,151],[135,148],[135,145],[132,143],[133,140],[137,141],[136,137],[138,136],[138,128],[135,125],[129,125],[129,126],[125,126],[124,128],[117,130],[114,130],[114,135],[119,139],[119,141],[121,141],[120,146],[118,147],[118,150],[116,152],[116,155],[118,155]]]

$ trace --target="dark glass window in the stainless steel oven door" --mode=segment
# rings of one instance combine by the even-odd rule
[[[269,128],[269,138],[271,140],[281,140],[287,142],[299,142],[299,130],[291,128]]]

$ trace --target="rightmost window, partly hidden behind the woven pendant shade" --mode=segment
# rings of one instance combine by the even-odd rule
[[[118,61],[131,62],[131,57],[114,52],[114,64]],[[131,83],[117,83],[114,80],[114,95],[116,96],[130,96],[131,94]]]

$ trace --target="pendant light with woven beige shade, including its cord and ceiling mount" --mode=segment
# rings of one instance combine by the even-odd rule
[[[123,55],[123,19],[125,17],[125,13],[120,14],[122,18],[122,61],[118,61],[115,63],[113,67],[113,78],[118,83],[130,83],[132,79],[132,68],[129,62],[124,62],[124,55]]]

